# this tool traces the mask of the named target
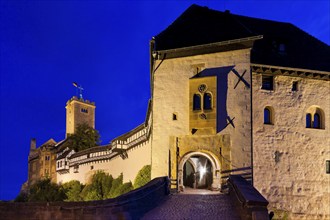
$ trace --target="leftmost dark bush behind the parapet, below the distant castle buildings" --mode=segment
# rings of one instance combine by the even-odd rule
[[[52,183],[49,178],[42,179],[33,184],[28,196],[29,202],[63,201],[67,199],[62,186]]]

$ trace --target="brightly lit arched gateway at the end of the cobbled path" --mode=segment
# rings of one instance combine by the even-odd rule
[[[220,189],[220,162],[212,153],[194,151],[185,154],[178,171],[181,190],[185,187]]]

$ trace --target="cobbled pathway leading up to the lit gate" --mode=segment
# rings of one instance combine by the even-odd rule
[[[156,208],[147,212],[142,219],[221,219],[239,220],[230,197],[206,190],[186,190],[185,193],[169,195]]]

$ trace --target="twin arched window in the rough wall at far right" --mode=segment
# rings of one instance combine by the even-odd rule
[[[311,106],[306,112],[306,128],[324,129],[324,112],[317,106]]]

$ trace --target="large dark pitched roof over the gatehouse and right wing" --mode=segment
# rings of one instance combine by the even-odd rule
[[[155,50],[169,50],[263,35],[253,46],[257,64],[330,71],[330,47],[286,23],[190,6],[155,37]],[[279,51],[279,49],[284,49]]]

